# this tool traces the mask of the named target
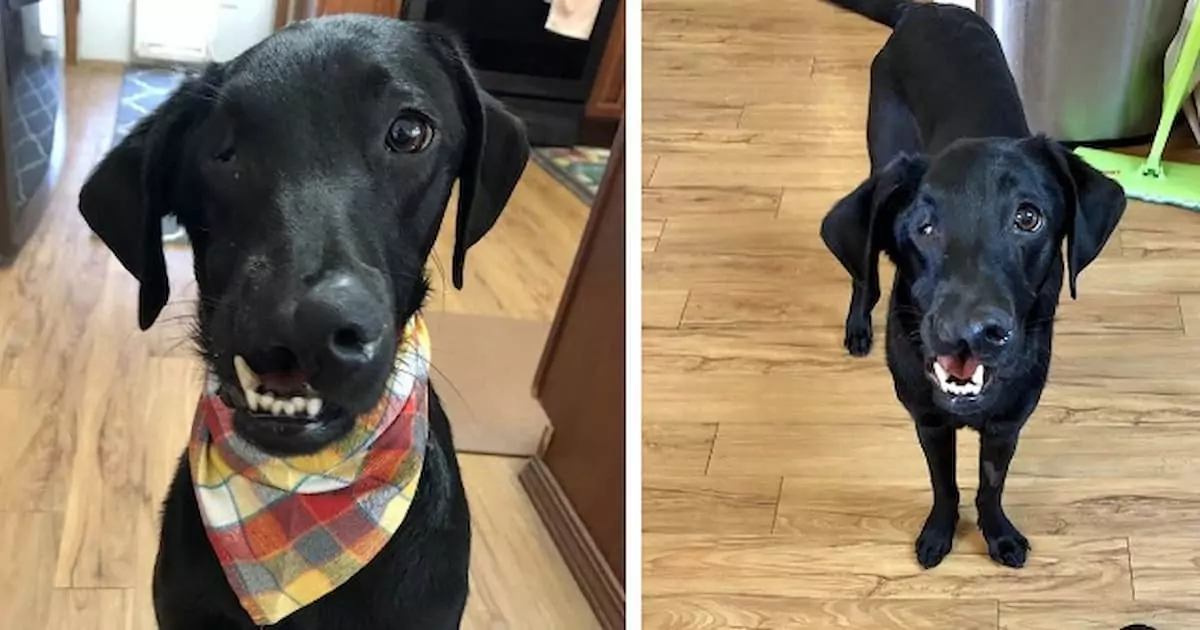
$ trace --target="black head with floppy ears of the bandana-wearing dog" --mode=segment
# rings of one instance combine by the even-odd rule
[[[235,430],[313,452],[383,396],[454,182],[461,288],[528,155],[454,38],[320,18],[187,80],[104,157],[79,208],[140,282],[142,329],[168,296],[161,220],[179,217],[198,344]]]

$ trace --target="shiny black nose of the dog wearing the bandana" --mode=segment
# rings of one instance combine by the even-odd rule
[[[350,274],[330,274],[296,304],[294,342],[301,365],[353,372],[376,359],[384,335],[379,299]]]

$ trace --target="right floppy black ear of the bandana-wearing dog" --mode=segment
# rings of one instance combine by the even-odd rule
[[[479,242],[509,202],[529,160],[524,125],[492,95],[484,91],[458,41],[431,32],[458,85],[466,149],[458,168],[458,215],[455,217],[452,280],[462,288],[467,250]]]

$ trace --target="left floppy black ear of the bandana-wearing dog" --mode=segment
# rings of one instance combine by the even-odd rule
[[[194,79],[193,79],[194,80]],[[138,325],[158,318],[170,292],[162,251],[162,218],[181,158],[179,144],[194,118],[194,85],[181,86],[146,115],[88,176],[79,212],[140,283]]]

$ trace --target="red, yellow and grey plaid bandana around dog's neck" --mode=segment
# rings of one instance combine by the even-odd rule
[[[425,455],[428,348],[414,316],[379,404],[306,456],[274,457],[238,437],[210,376],[188,460],[209,541],[256,624],[278,623],[332,592],[400,528]]]

